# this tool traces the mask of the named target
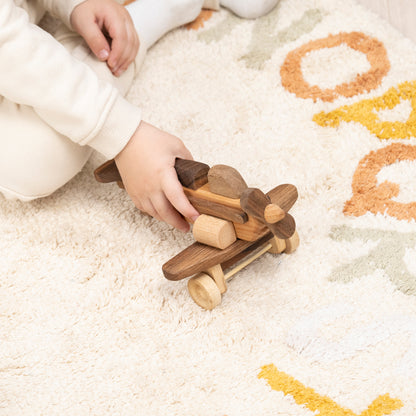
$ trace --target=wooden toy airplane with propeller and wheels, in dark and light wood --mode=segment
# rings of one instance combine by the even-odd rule
[[[175,281],[195,275],[188,291],[202,308],[215,308],[227,290],[226,281],[262,254],[292,253],[298,247],[296,224],[288,213],[298,198],[295,186],[279,185],[264,194],[249,188],[230,166],[210,168],[176,159],[175,169],[185,195],[201,215],[193,224],[196,242],[162,270]],[[94,173],[97,181],[116,181],[124,188],[113,160]]]

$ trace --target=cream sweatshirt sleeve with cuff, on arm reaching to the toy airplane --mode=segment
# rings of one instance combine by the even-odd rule
[[[29,23],[13,0],[0,3],[0,74],[0,95],[33,107],[56,131],[108,158],[123,149],[140,123],[140,109]]]

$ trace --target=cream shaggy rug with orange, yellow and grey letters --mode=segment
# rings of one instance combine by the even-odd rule
[[[301,245],[208,312],[162,264],[192,243],[95,155],[0,199],[1,415],[416,414],[416,47],[352,0],[226,10],[162,39],[129,99],[196,160],[298,187]]]

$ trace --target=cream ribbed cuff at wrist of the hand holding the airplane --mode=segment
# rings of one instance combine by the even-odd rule
[[[140,121],[140,108],[118,96],[100,132],[89,142],[80,144],[87,144],[112,159],[126,146]]]

